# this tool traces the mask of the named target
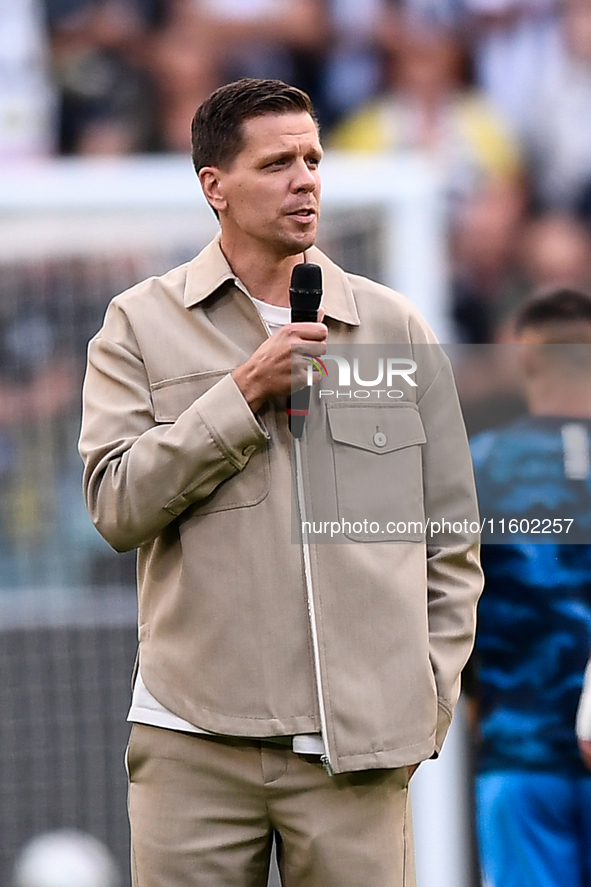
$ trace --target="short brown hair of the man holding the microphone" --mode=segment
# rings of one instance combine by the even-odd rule
[[[310,97],[282,80],[244,77],[216,89],[197,108],[191,125],[195,172],[204,166],[227,168],[244,145],[243,123],[264,114],[309,114],[318,126]]]

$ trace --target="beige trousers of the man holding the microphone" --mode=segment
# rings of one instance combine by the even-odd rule
[[[414,887],[408,770],[328,776],[289,746],[135,724],[134,887]]]

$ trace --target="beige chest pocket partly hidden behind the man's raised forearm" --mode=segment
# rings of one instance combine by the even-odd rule
[[[156,422],[175,422],[195,400],[232,372],[232,369],[233,367],[192,373],[175,379],[165,379],[153,385],[151,394]],[[223,480],[209,496],[184,510],[183,519],[197,514],[213,514],[258,505],[269,493],[270,476],[268,448],[264,447],[252,454],[241,471]]]

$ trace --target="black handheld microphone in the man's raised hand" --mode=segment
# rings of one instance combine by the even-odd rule
[[[291,274],[289,304],[292,323],[316,323],[322,300],[322,268],[310,262],[296,265]],[[294,391],[287,399],[287,421],[294,437],[304,433],[304,422],[310,406],[310,388],[307,385]]]

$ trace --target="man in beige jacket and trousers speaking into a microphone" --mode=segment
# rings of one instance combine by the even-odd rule
[[[263,887],[273,834],[285,887],[414,884],[408,780],[443,742],[481,589],[473,538],[442,532],[474,523],[472,470],[420,315],[314,247],[321,157],[299,90],[213,93],[193,161],[221,233],[90,344],[87,504],[138,549],[135,887]],[[323,320],[292,324],[303,260]],[[347,391],[370,345],[384,385]],[[323,355],[294,443],[286,397]]]

